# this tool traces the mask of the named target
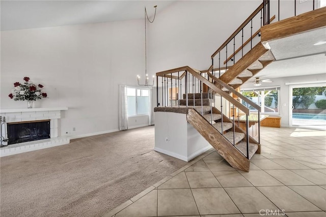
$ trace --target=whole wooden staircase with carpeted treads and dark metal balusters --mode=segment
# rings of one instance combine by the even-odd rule
[[[264,21],[261,21],[262,26],[246,43],[249,46],[248,43],[251,42],[252,44],[255,37],[261,36],[261,40],[257,45],[253,47],[251,45],[248,52],[243,52],[246,43],[243,44],[242,40],[242,46],[235,51],[235,37],[241,31],[243,33],[243,28],[257,16],[260,19],[264,18]],[[176,88],[178,92],[176,101],[178,102],[175,105],[177,106],[173,107],[171,104],[171,107],[173,109],[184,109],[186,107],[187,121],[232,167],[247,172],[249,172],[250,159],[255,153],[260,153],[261,149],[259,144],[261,108],[235,89],[275,60],[268,41],[325,26],[326,8],[294,16],[286,19],[286,21],[282,20],[269,24],[269,21],[274,18],[275,16],[269,19],[269,1],[264,0],[229,39],[212,54],[212,65],[208,70],[199,71],[184,66],[156,73],[157,84],[159,83],[159,77],[161,77],[162,83],[161,95],[157,86],[157,106],[159,106],[161,100],[161,106],[168,108],[170,105],[165,102],[169,102],[169,97],[170,100],[172,99],[169,96],[168,89]],[[314,20],[314,22],[308,25],[311,20]],[[259,32],[260,34],[258,34]],[[221,52],[228,54],[228,44],[234,44],[234,52],[230,56],[227,55],[224,64],[221,65],[221,62],[223,63],[223,60],[220,59]],[[242,55],[235,61],[234,57],[239,55],[239,51],[242,51]],[[215,66],[216,68],[214,68],[214,58],[218,58],[218,67]],[[216,73],[220,76],[216,76]],[[198,85],[197,88],[196,85]],[[196,92],[196,89],[199,92]],[[180,96],[182,98],[179,99]],[[216,100],[214,99],[216,96],[221,99],[220,109],[215,106]],[[214,103],[212,103],[212,100],[214,100]],[[252,108],[256,109],[256,116],[251,115]],[[173,111],[173,109],[170,111]],[[236,110],[238,115],[234,115]],[[232,115],[231,111],[233,111]],[[246,122],[244,130],[243,127],[239,127],[240,115],[244,117],[243,119]],[[249,136],[250,122],[258,123],[258,141]]]

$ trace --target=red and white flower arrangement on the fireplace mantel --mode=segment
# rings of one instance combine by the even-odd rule
[[[25,81],[23,84],[19,82],[14,83],[15,88],[12,89],[11,94],[8,96],[10,99],[14,99],[14,101],[35,101],[47,97],[46,92],[43,91],[42,84],[35,85],[30,82],[29,77],[24,77],[23,79]]]

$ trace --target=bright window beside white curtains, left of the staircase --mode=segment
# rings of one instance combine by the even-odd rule
[[[128,116],[146,115],[149,111],[149,90],[127,87]]]

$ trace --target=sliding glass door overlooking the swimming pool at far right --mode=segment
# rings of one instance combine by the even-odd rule
[[[326,84],[290,86],[290,127],[326,130]]]

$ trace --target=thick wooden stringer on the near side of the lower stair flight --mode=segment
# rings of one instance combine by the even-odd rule
[[[187,121],[233,168],[249,172],[250,161],[195,109],[188,109]]]

